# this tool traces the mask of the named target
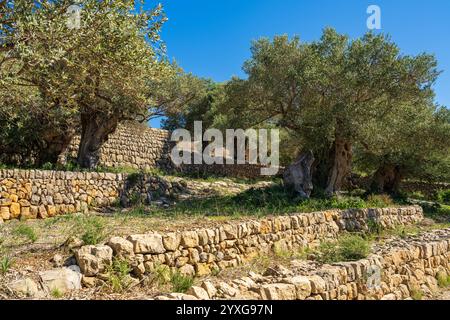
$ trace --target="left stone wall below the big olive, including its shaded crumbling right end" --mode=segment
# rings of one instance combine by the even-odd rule
[[[137,192],[142,201],[157,201],[183,191],[181,183],[152,175],[0,170],[0,219],[44,219],[119,200],[126,205]]]

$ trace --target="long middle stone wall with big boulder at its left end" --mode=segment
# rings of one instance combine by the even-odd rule
[[[274,246],[285,250],[315,246],[325,239],[336,239],[344,230],[367,229],[370,219],[392,228],[421,221],[423,212],[416,206],[330,210],[229,223],[211,229],[114,237],[107,245],[81,248],[76,257],[86,276],[104,272],[113,252],[116,257],[127,259],[137,276],[153,271],[157,265],[204,276],[213,269],[238,266]]]

